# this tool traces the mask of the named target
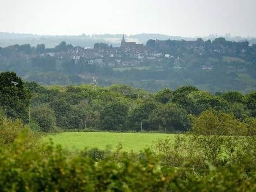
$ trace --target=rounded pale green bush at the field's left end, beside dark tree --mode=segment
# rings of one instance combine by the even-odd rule
[[[32,121],[35,121],[43,132],[50,132],[56,124],[54,111],[46,105],[32,108],[31,117]]]

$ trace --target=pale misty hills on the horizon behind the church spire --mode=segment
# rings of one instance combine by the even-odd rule
[[[93,47],[95,43],[102,42],[113,45],[114,47],[119,47],[123,34],[94,34],[86,35],[82,34],[79,36],[49,36],[49,35],[35,35],[35,34],[23,34],[23,33],[7,33],[0,32],[0,46],[6,47],[15,44],[30,44],[36,46],[37,44],[45,44],[47,48],[53,48],[59,44],[61,41],[66,41],[68,44],[81,47]],[[181,37],[181,36],[168,36],[163,34],[135,34],[135,35],[125,35],[127,41],[136,41],[137,43],[146,44],[149,39],[159,39],[159,40],[196,40],[198,37]],[[214,40],[219,36],[210,35],[206,37],[201,37],[203,40]],[[231,37],[224,36],[226,40],[232,41],[245,41],[247,40],[249,44],[256,44],[256,38],[252,37]]]

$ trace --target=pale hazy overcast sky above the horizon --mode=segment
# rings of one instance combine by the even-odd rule
[[[0,31],[256,36],[256,0],[0,0]]]

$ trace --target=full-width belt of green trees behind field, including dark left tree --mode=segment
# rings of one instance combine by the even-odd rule
[[[0,73],[0,81],[0,107],[6,116],[45,132],[56,127],[186,132],[199,120],[222,122],[220,118],[225,116],[225,126],[230,126],[228,121],[247,126],[256,117],[256,92],[212,94],[194,86],[162,89],[155,94],[127,85],[96,90],[87,84],[45,87],[23,82],[14,72]]]

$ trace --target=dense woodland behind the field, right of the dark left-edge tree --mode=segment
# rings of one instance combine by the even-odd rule
[[[256,110],[253,93],[242,97],[236,92],[218,95],[191,86],[163,89],[154,95],[126,85],[98,87],[96,92],[90,85],[47,89],[35,83],[27,86],[33,93],[32,105],[48,105],[54,111],[56,125],[64,129],[139,131],[142,124],[146,131],[186,131],[191,126],[189,115],[215,110],[233,114],[241,122]]]

